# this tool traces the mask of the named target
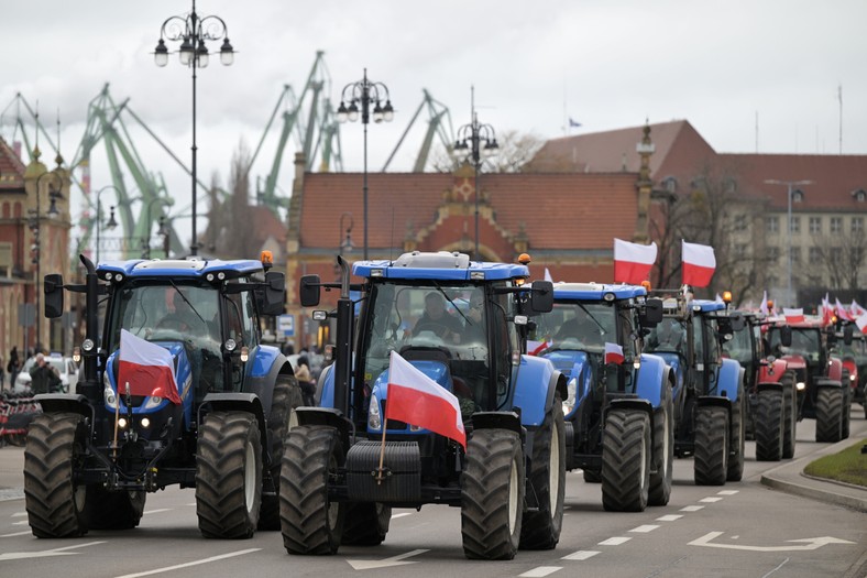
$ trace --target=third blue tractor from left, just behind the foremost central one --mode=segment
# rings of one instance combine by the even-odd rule
[[[671,494],[671,370],[643,352],[662,318],[659,299],[635,285],[558,283],[555,306],[535,318],[537,355],[568,375],[567,468],[602,482],[602,504],[616,512],[665,505]]]

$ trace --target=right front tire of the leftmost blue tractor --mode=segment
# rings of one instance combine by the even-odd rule
[[[208,538],[250,538],[262,501],[259,421],[246,412],[212,412],[199,426],[196,514]]]

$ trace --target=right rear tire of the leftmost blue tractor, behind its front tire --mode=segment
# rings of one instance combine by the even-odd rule
[[[271,479],[274,494],[262,493],[262,508],[259,511],[259,530],[279,530],[279,470],[283,460],[283,445],[289,429],[295,424],[294,410],[303,405],[301,388],[294,375],[277,375],[268,415],[271,434]]]

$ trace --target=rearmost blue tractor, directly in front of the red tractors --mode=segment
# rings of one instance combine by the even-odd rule
[[[723,357],[733,338],[723,302],[693,299],[689,290],[654,290],[662,321],[645,340],[674,373],[674,455],[693,456],[699,486],[722,486],[744,475],[744,368]]]

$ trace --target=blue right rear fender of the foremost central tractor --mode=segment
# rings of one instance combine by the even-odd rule
[[[567,397],[566,377],[545,358],[520,356],[512,405],[520,407],[520,423],[524,426],[541,425],[553,403],[555,392],[560,393],[561,400]]]

